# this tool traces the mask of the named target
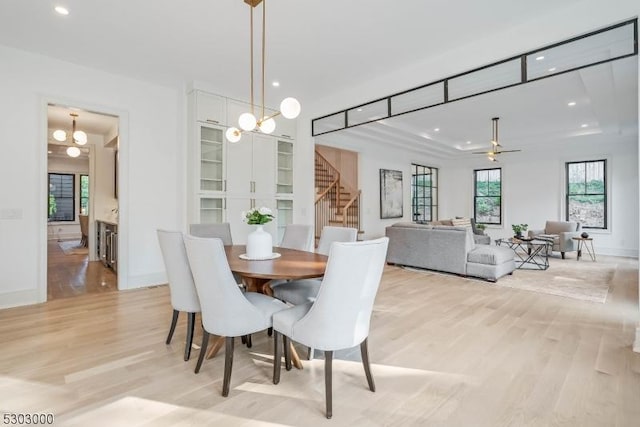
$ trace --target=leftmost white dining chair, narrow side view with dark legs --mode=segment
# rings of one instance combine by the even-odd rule
[[[191,268],[184,248],[182,233],[180,231],[158,230],[158,241],[160,242],[164,266],[167,270],[171,306],[173,307],[173,317],[166,343],[167,345],[171,344],[180,312],[187,313],[187,338],[184,347],[184,360],[187,361],[191,356],[193,327],[196,313],[200,312],[200,301],[191,276]]]

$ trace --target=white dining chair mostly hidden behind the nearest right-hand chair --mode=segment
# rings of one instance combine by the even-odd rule
[[[355,242],[358,237],[358,230],[349,227],[331,227],[327,226],[322,229],[320,241],[318,242],[317,253],[328,255],[331,244],[334,242]],[[313,301],[320,289],[321,279],[303,279],[292,280],[289,282],[271,283],[273,296],[288,302],[289,304],[298,305]]]

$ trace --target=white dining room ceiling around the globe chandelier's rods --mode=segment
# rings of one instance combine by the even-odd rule
[[[281,86],[266,103],[317,99],[573,3],[268,0],[266,78]],[[249,10],[243,0],[3,0],[0,43],[143,80],[210,82],[247,99]]]

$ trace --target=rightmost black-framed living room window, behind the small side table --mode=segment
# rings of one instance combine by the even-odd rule
[[[566,219],[583,228],[607,228],[607,161],[566,164]]]

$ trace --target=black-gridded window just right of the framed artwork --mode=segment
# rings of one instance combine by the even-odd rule
[[[438,169],[411,165],[411,207],[413,221],[438,219]]]

